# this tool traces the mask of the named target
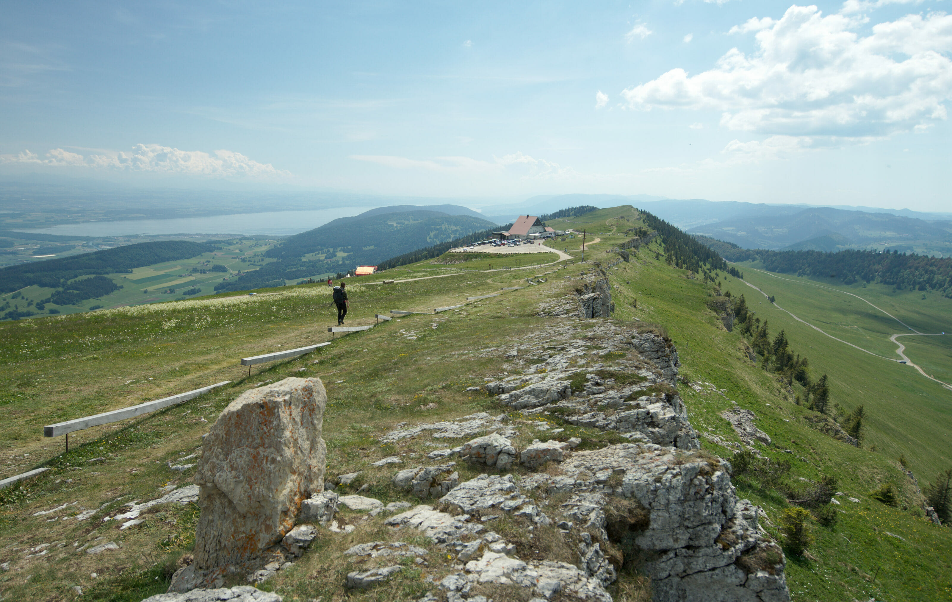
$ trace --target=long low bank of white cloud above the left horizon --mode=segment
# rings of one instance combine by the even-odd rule
[[[270,163],[249,159],[240,152],[214,151],[214,156],[203,151],[179,151],[157,144],[137,144],[132,151],[109,154],[82,155],[53,149],[44,155],[23,151],[15,155],[0,155],[0,163],[20,163],[67,167],[88,167],[118,171],[150,171],[169,174],[209,175],[216,177],[268,177],[290,175],[276,170]]]

